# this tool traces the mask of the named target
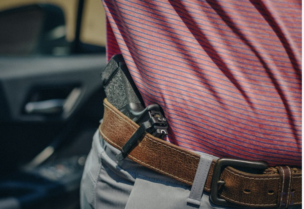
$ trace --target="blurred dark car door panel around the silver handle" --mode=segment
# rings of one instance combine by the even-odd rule
[[[56,137],[68,138],[68,126],[80,129],[80,117],[94,121],[92,126],[97,127],[104,97],[99,74],[105,63],[104,54],[0,58],[0,159],[6,165],[4,170],[32,159]],[[96,100],[94,97],[99,97],[100,104],[91,106],[88,101]],[[25,111],[30,102],[52,99],[69,104],[56,114]],[[86,115],[87,108],[91,110]]]

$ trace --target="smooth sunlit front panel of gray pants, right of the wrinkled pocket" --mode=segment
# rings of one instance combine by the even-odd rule
[[[200,206],[187,203],[191,187],[161,174],[137,175],[125,209],[232,209],[214,205],[204,192]]]

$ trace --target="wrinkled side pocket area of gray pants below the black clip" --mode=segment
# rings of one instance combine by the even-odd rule
[[[95,208],[123,209],[129,199],[134,184],[137,165],[125,159],[118,162],[119,150],[101,140],[104,152],[101,153],[101,164],[95,189]]]

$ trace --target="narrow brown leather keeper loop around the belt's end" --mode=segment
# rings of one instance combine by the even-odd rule
[[[276,169],[278,169],[281,178],[281,188],[278,192],[278,209],[283,209],[287,208],[289,204],[293,172],[289,166],[278,166]]]

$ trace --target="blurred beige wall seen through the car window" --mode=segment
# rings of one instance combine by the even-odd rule
[[[62,8],[66,21],[67,39],[74,40],[78,0],[2,0],[0,11],[37,3],[52,4]],[[85,0],[81,26],[82,42],[105,46],[105,12],[100,0]]]

